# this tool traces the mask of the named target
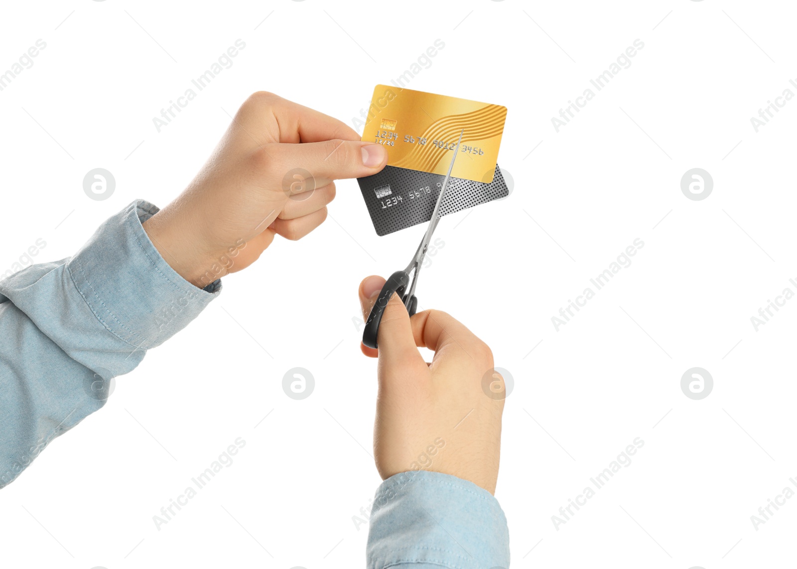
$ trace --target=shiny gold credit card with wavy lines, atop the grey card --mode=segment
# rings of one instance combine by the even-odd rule
[[[377,85],[363,141],[383,144],[390,166],[446,175],[463,131],[454,178],[493,182],[506,107]]]

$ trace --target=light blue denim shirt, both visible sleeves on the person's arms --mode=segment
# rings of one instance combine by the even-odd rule
[[[163,260],[141,226],[157,211],[132,202],[73,257],[0,281],[0,488],[221,293],[221,281],[197,288]],[[369,569],[509,566],[497,500],[457,477],[388,478],[370,524]]]

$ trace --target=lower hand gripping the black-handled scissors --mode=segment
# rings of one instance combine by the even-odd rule
[[[384,285],[367,277],[359,285],[363,320]],[[410,318],[397,295],[379,324],[379,396],[374,457],[387,479],[408,470],[430,470],[496,489],[501,453],[503,379],[493,375],[493,353],[446,312],[425,310]],[[426,363],[418,347],[434,351]],[[485,377],[488,378],[487,393]],[[498,382],[498,383],[496,383]],[[491,390],[492,389],[492,390]]]

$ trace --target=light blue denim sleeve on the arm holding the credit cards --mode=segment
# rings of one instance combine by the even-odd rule
[[[221,291],[163,260],[141,225],[157,212],[136,200],[73,257],[0,281],[0,488]]]

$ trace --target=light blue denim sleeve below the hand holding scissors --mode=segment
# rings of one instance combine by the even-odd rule
[[[368,569],[506,569],[509,532],[498,500],[473,482],[413,471],[379,486]]]

